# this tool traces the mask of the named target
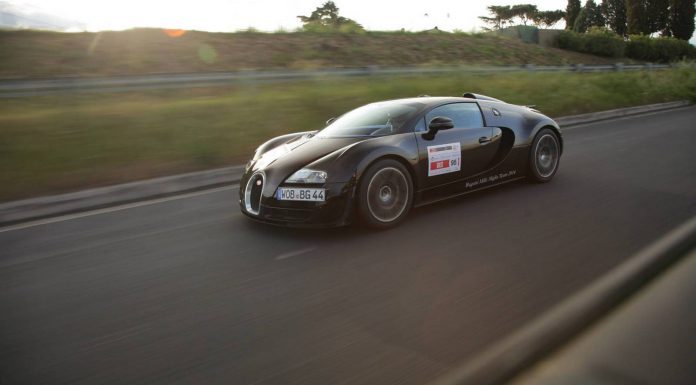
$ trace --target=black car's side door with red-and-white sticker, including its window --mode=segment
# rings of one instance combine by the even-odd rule
[[[452,119],[454,128],[427,134],[435,117]],[[425,188],[465,179],[485,171],[496,154],[489,146],[494,128],[485,127],[476,102],[450,103],[435,107],[416,126],[419,178]]]

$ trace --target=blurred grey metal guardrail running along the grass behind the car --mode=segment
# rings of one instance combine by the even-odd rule
[[[142,89],[215,87],[239,83],[288,82],[361,76],[436,75],[446,73],[494,74],[511,72],[611,72],[664,70],[666,64],[569,66],[449,66],[335,68],[321,70],[235,71],[191,74],[149,74],[113,77],[0,80],[0,98],[40,96],[66,92],[123,92]]]

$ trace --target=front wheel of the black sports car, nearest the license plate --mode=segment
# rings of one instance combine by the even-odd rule
[[[413,204],[413,181],[403,164],[384,159],[367,169],[358,188],[360,220],[375,229],[399,224]]]

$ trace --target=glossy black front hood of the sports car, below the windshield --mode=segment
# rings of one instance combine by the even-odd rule
[[[367,139],[370,138],[307,138],[306,136],[294,138],[261,155],[261,157],[251,165],[249,171],[252,173],[258,171],[264,172],[266,175],[266,184],[268,187],[275,189],[275,187],[280,185],[287,177],[302,167],[332,152]]]

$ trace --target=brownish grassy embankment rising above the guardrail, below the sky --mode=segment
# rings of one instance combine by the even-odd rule
[[[490,34],[189,31],[170,37],[157,29],[103,33],[0,31],[0,57],[0,79],[368,65],[616,61]]]

